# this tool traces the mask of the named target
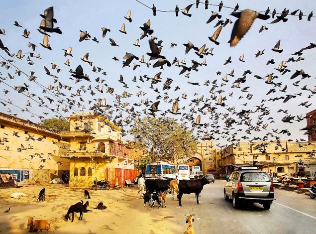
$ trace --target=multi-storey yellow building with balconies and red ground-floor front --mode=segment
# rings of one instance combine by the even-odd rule
[[[91,187],[96,177],[108,180],[112,187],[137,176],[131,147],[119,127],[89,113],[67,118],[70,131],[60,135],[69,140],[70,148],[59,156],[70,160],[70,187]]]

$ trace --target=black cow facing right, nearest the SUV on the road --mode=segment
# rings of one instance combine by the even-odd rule
[[[197,196],[197,204],[199,204],[199,194],[203,190],[203,186],[210,184],[207,178],[204,176],[201,179],[196,180],[180,180],[179,181],[179,206],[181,204],[181,198],[183,194],[195,193]]]

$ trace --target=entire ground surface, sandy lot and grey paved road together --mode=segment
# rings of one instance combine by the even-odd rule
[[[84,213],[83,221],[75,215],[73,223],[64,220],[70,204],[83,199],[82,189],[69,189],[66,185],[47,185],[47,199],[44,203],[31,198],[39,187],[1,190],[0,209],[9,213],[0,219],[0,233],[27,233],[26,220],[39,211],[37,218],[48,220],[52,230],[58,234],[74,233],[107,233],[113,234],[182,234],[187,228],[185,215],[195,215],[193,227],[196,234],[312,234],[316,223],[316,200],[309,196],[293,192],[275,190],[276,201],[269,211],[263,210],[259,204],[240,210],[232,207],[232,200],[223,198],[224,180],[215,180],[214,184],[204,186],[200,205],[196,204],[194,194],[185,194],[182,207],[178,201],[166,198],[166,208],[150,209],[143,206],[143,199],[137,196],[137,187],[119,190],[90,191],[89,209],[93,212]],[[30,194],[29,198],[20,200],[8,199],[12,192]],[[65,197],[71,194],[71,197]],[[86,201],[86,200],[85,200]],[[100,201],[107,206],[105,211],[96,207]],[[53,212],[52,212],[53,211]],[[124,232],[123,232],[124,231]]]

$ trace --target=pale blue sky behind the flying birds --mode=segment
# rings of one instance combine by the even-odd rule
[[[111,108],[105,110],[102,115],[110,115],[111,120],[116,122],[122,120],[123,129],[128,131],[132,122],[127,124],[123,121],[126,120],[126,117],[128,117],[127,120],[131,120],[133,117],[151,116],[149,115],[151,112],[148,110],[150,105],[160,101],[158,109],[161,112],[156,112],[156,117],[174,117],[179,123],[186,124],[199,140],[207,133],[213,136],[215,143],[218,142],[218,145],[221,146],[236,142],[231,141],[232,139],[246,141],[254,137],[258,137],[257,139],[260,140],[276,140],[277,137],[282,140],[307,140],[305,132],[299,130],[306,126],[306,119],[298,121],[297,116],[305,117],[306,113],[316,108],[316,94],[313,95],[316,86],[316,67],[314,66],[316,48],[304,50],[301,56],[292,54],[306,48],[310,43],[316,43],[316,32],[314,30],[316,19],[312,17],[311,21],[307,20],[308,15],[314,10],[314,1],[226,0],[223,1],[223,8],[220,12],[217,6],[219,2],[219,0],[216,2],[210,1],[213,5],[210,4],[208,9],[205,9],[204,1],[201,1],[199,7],[196,8],[196,2],[190,0],[15,0],[2,2],[0,29],[4,29],[6,35],[0,34],[0,39],[11,54],[17,54],[18,50],[21,49],[25,57],[22,59],[18,59],[16,56],[9,57],[3,50],[0,50],[0,61],[6,62],[9,66],[7,68],[2,63],[3,66],[0,67],[0,112],[16,115],[16,117],[29,119],[33,122],[40,122],[44,118],[67,117],[73,113],[93,112],[89,108],[97,104],[99,99],[106,99],[106,104]],[[193,3],[189,10],[189,13],[192,14],[191,17],[181,12],[176,17],[174,12],[176,5],[183,9],[191,3]],[[237,11],[249,8],[264,14],[269,7],[271,17],[267,20],[255,19],[240,42],[235,47],[230,47],[227,42],[237,20],[230,13],[237,3],[239,5]],[[157,8],[156,16],[153,15],[152,4]],[[57,19],[54,27],[59,27],[62,31],[62,34],[48,33],[50,35],[51,51],[40,45],[40,43],[43,43],[44,35],[37,31],[42,20],[39,14],[43,14],[44,10],[50,6],[54,7],[54,18]],[[302,20],[299,20],[299,10],[296,15],[289,13],[286,22],[281,21],[271,24],[274,20],[272,19],[274,8],[277,11],[276,15],[280,15],[284,8],[289,9],[290,13],[300,9],[303,12]],[[124,18],[129,9],[131,10],[131,22]],[[211,16],[211,11],[219,13],[221,20],[225,21],[229,18],[232,21],[232,23],[228,23],[222,28],[217,38],[219,45],[215,45],[208,38],[215,32],[217,27],[214,26],[218,21],[218,18],[216,18],[209,24],[206,23]],[[160,54],[165,56],[168,61],[172,63],[176,57],[179,64],[184,65],[181,61],[186,58],[185,66],[191,67],[192,60],[203,63],[206,59],[207,66],[200,65],[198,71],[191,70],[189,78],[185,77],[189,72],[179,75],[182,68],[175,65],[171,67],[164,65],[163,69],[153,68],[152,65],[156,60],[149,61],[149,56],[146,55],[147,52],[150,52],[150,36],[139,40],[139,47],[133,45],[136,39],[141,36],[142,30],[139,26],[143,26],[148,19],[151,21],[150,28],[154,30],[151,36],[157,37],[156,42],[163,41]],[[14,21],[17,21],[23,27],[14,26]],[[119,32],[123,23],[125,23],[126,34]],[[262,25],[265,25],[268,29],[259,33]],[[102,27],[110,29],[110,32],[107,32],[104,38],[102,37]],[[29,38],[22,36],[25,28],[30,31]],[[90,40],[79,42],[80,30],[87,31],[91,35]],[[97,38],[99,43],[92,40],[94,37]],[[119,46],[111,46],[109,38],[112,38]],[[282,53],[271,50],[279,40],[281,40],[280,49],[283,49]],[[188,41],[191,41],[198,48],[206,44],[205,48],[213,48],[213,55],[204,55],[203,58],[199,58],[193,49],[185,54],[183,44],[188,43]],[[28,47],[29,42],[36,45],[35,52]],[[170,48],[171,43],[177,45]],[[70,46],[73,48],[73,57],[65,57],[62,49],[67,49]],[[263,50],[264,54],[256,57],[257,52]],[[29,65],[27,61],[27,57],[30,56],[28,52],[33,52],[34,56],[40,54],[40,59],[34,56],[30,57],[33,65]],[[102,68],[101,72],[93,72],[93,66],[81,60],[88,52],[89,61],[93,62],[93,66]],[[130,67],[123,68],[122,61],[126,52],[134,54],[139,60],[134,59]],[[244,54],[245,62],[238,60],[242,54]],[[145,55],[145,62],[151,63],[149,68],[146,64],[140,63],[142,55]],[[113,56],[118,61],[113,60]],[[231,63],[223,65],[228,57],[231,57]],[[287,62],[285,69],[290,71],[282,75],[282,72],[279,72],[276,68],[282,61],[288,61],[291,57],[295,61],[299,57],[304,59],[297,62]],[[64,64],[68,58],[70,59],[70,67]],[[271,59],[274,59],[275,64],[266,65]],[[53,70],[51,63],[56,64],[57,68],[61,69],[60,72],[57,73],[56,69]],[[139,65],[135,70],[133,70],[134,63]],[[89,76],[91,82],[82,79],[76,83],[76,79],[69,79],[72,74],[69,70],[76,70],[78,65],[83,67],[84,73]],[[56,77],[47,75],[44,66]],[[222,81],[225,74],[229,74],[233,69],[234,76],[228,75],[228,82]],[[301,69],[310,77],[304,78],[300,75],[290,79],[297,70],[300,71]],[[22,74],[18,76],[18,74],[15,74],[16,70],[22,71]],[[234,82],[243,77],[243,73],[247,70],[250,70],[251,74],[246,75],[245,82],[239,85],[240,88],[231,88]],[[29,81],[30,71],[35,72],[35,82]],[[106,76],[102,72],[106,72]],[[139,76],[153,78],[159,72],[161,72],[161,82],[153,84],[152,88],[150,88],[152,80],[146,81],[144,78],[144,83],[139,80]],[[10,79],[8,73],[14,76],[14,79]],[[267,79],[265,77],[272,73],[274,77],[277,76],[273,83],[279,83],[280,87],[265,83]],[[128,88],[123,87],[123,84],[118,81],[120,75],[123,76]],[[132,81],[134,76],[136,76],[137,82]],[[257,79],[255,76],[264,79]],[[100,78],[99,82],[96,81],[98,77]],[[163,83],[167,78],[172,79],[173,82],[169,90],[163,90]],[[104,80],[103,83],[101,83],[102,80]],[[204,85],[206,81],[210,81],[208,85]],[[192,85],[188,82],[198,83],[199,85]],[[294,82],[298,82],[298,86],[294,86]],[[25,86],[24,83],[29,86],[28,91],[18,93],[17,90],[14,90],[14,87]],[[59,84],[60,87],[58,87]],[[213,84],[216,87],[211,90]],[[49,85],[54,87],[53,90],[48,89]],[[99,88],[104,86],[103,93],[96,89],[97,85],[99,85]],[[285,85],[287,85],[287,89],[285,92],[281,92],[280,90]],[[91,95],[89,86],[91,86],[91,90],[95,95]],[[177,86],[180,89],[175,91]],[[306,89],[304,86],[306,86]],[[56,87],[58,87],[58,90],[56,90]],[[65,87],[72,88],[69,91]],[[106,93],[108,87],[114,89],[112,95]],[[245,87],[249,88],[246,89],[246,92],[242,92],[241,90]],[[159,93],[154,91],[156,88]],[[271,89],[274,89],[275,92],[268,94]],[[5,90],[8,92],[6,93]],[[76,94],[77,90],[81,91],[80,96]],[[60,94],[58,94],[58,91]],[[123,98],[124,91],[131,94],[130,97]],[[35,96],[28,97],[27,92],[35,94]],[[182,98],[184,93],[187,95],[187,99]],[[211,99],[213,93],[216,97],[214,100]],[[136,94],[140,95],[137,96]],[[251,99],[246,98],[248,94],[252,96]],[[115,100],[115,95],[121,96],[120,102]],[[223,101],[225,106],[215,105],[219,95],[226,99]],[[269,101],[282,96],[286,97],[286,95],[296,97],[286,103],[283,103],[284,99]],[[50,97],[54,102],[50,104],[45,96]],[[41,104],[39,98],[45,103]],[[172,105],[177,98],[179,98],[179,112],[181,115],[175,116],[167,111],[172,109]],[[146,99],[149,101],[149,106],[142,103],[142,100]],[[201,99],[202,101],[192,102],[194,99]],[[26,106],[27,101],[29,101],[30,106]],[[308,102],[306,103],[308,107],[300,106],[301,103],[305,102]],[[205,108],[202,112],[199,112],[198,109],[201,109],[205,104],[210,104],[211,108],[215,107],[216,109],[213,112],[208,112],[208,108]],[[256,111],[260,105],[263,105],[263,108],[268,111],[268,115],[261,116],[263,112]],[[66,112],[62,111],[65,106]],[[130,110],[132,107],[134,111]],[[185,109],[182,110],[182,108]],[[279,111],[280,109],[284,112]],[[236,115],[243,110],[250,112],[249,118]],[[201,115],[201,123],[208,124],[208,126],[192,125],[192,122],[199,115]],[[288,115],[295,116],[292,123],[282,121],[282,118]],[[226,126],[225,120],[227,118],[233,118],[235,123]],[[245,124],[246,122],[248,122],[248,125]],[[264,126],[264,124],[267,126]],[[280,133],[282,129],[287,129],[289,133]],[[269,135],[269,133],[272,135]],[[132,140],[132,136],[129,134],[125,137]]]

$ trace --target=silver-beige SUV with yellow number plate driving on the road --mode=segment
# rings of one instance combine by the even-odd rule
[[[227,178],[224,198],[232,198],[234,208],[248,202],[260,203],[269,210],[275,200],[273,182],[267,172],[259,171],[257,167],[241,167]]]

